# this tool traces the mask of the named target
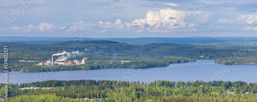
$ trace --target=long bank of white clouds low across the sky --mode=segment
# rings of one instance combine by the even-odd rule
[[[162,3],[161,5],[164,5]],[[168,5],[168,4],[167,4]],[[174,7],[175,8],[175,7]],[[80,17],[78,17],[80,18]],[[81,18],[82,19],[82,18]],[[132,19],[132,18],[131,18]],[[257,21],[257,13],[240,15],[236,12],[223,15],[223,13],[206,11],[179,11],[171,8],[152,9],[146,12],[145,17],[134,18],[131,22],[99,21],[85,22],[78,20],[56,27],[52,23],[41,22],[34,26],[29,24],[24,27],[13,26],[11,31],[21,32],[45,32],[54,31],[62,33],[70,32],[193,32],[193,31],[257,31],[254,26]]]

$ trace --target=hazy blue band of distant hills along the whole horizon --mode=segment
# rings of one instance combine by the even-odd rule
[[[154,43],[176,44],[246,44],[257,45],[257,37],[141,37],[141,38],[85,38],[85,37],[0,37],[0,42],[18,42],[26,44],[49,44],[63,41],[83,40],[109,40],[133,45],[146,45]]]

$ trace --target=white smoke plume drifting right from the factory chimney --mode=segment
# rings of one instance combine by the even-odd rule
[[[83,54],[84,54],[83,52],[79,52],[79,50],[77,50],[76,52],[71,52],[71,53],[63,52],[63,53],[53,54],[52,56],[60,56],[55,61],[66,61],[70,57],[81,56]]]

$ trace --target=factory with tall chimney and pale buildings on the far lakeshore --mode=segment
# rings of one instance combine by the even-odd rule
[[[81,62],[78,60],[74,60],[74,62],[61,62],[61,61],[53,61],[53,56],[51,60],[47,60],[46,62],[41,62],[38,65],[80,65],[80,64],[85,64],[85,60],[87,58],[83,58]]]

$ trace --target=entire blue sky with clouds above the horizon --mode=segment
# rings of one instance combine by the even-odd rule
[[[254,0],[1,0],[0,36],[257,37]]]

